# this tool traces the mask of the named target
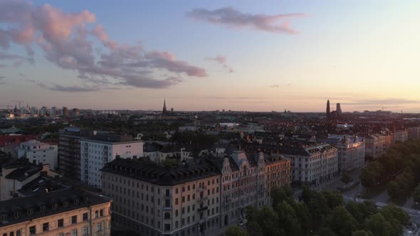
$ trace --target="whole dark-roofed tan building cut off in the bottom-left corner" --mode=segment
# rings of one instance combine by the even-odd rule
[[[110,236],[111,200],[79,190],[41,193],[0,202],[4,236]]]

